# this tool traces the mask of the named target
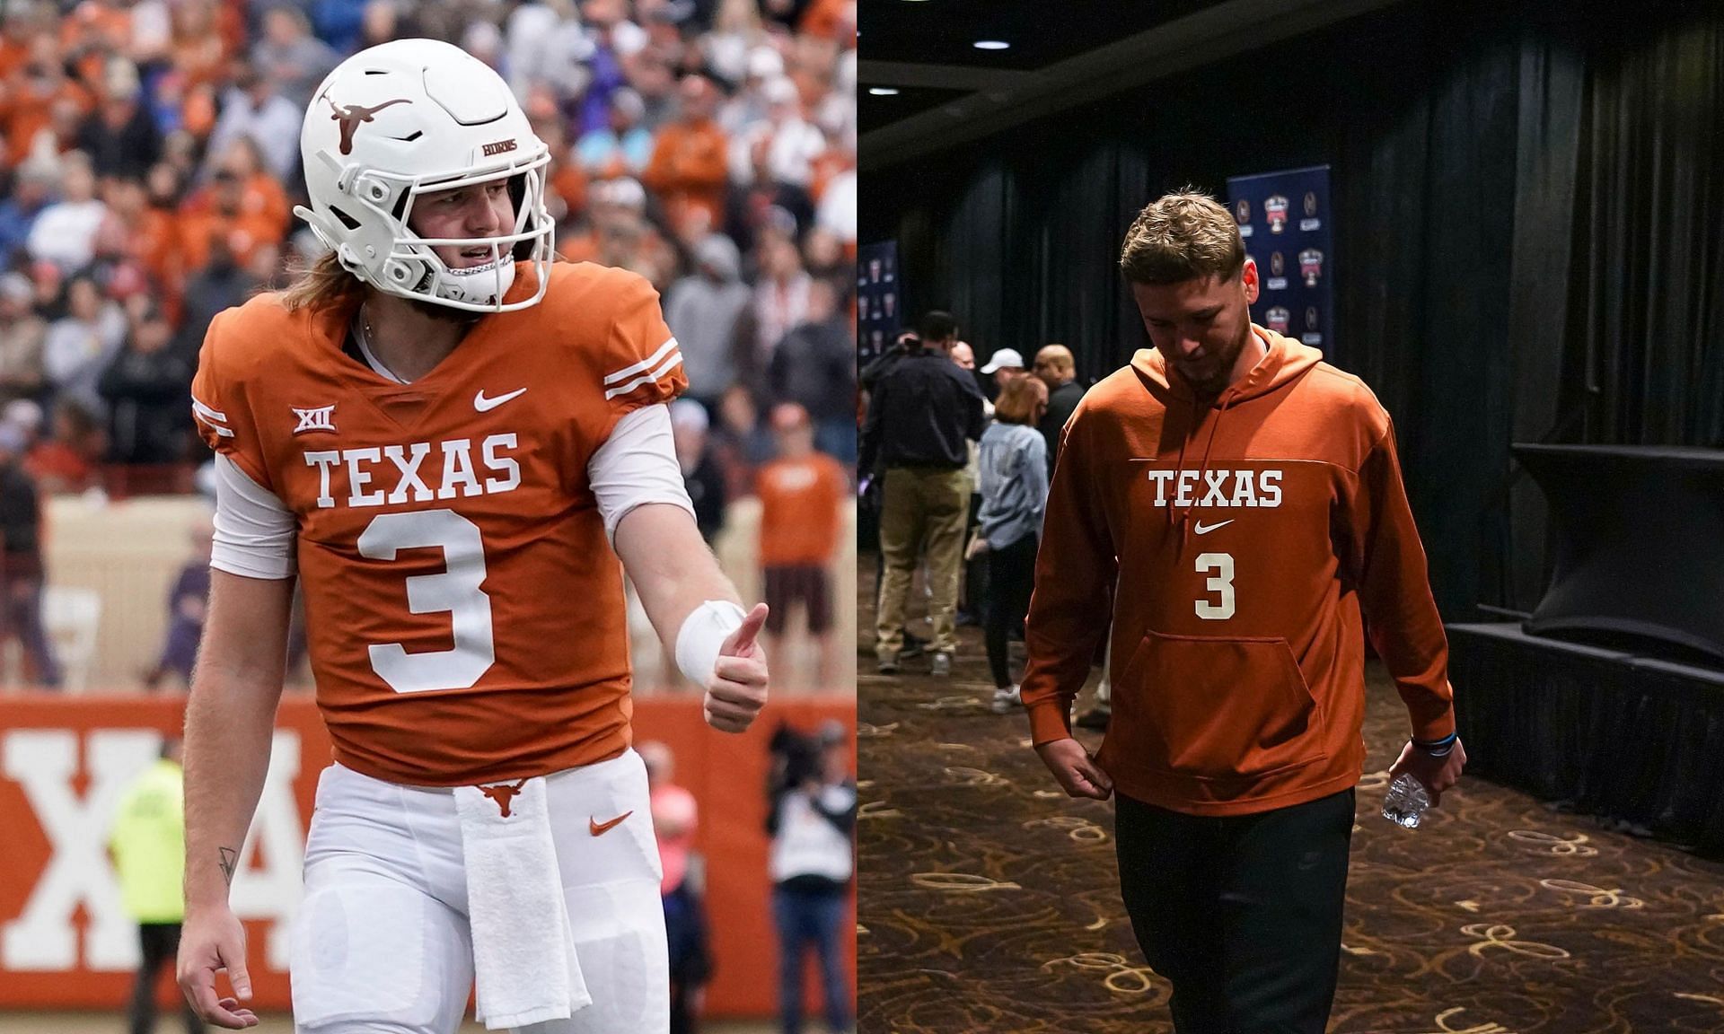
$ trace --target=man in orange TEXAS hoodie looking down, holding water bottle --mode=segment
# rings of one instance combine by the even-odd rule
[[[1153,348],[1090,389],[1048,496],[1022,700],[1071,796],[1117,789],[1121,891],[1179,1034],[1321,1034],[1365,760],[1364,636],[1433,803],[1465,763],[1448,645],[1388,414],[1253,326],[1257,267],[1207,195],[1146,207],[1121,269]],[[1112,617],[1102,750],[1069,713]]]

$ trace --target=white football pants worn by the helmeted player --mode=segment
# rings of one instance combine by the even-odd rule
[[[667,1034],[671,975],[646,769],[633,750],[548,777],[552,839],[593,1005],[517,1034]],[[598,836],[593,824],[622,822]],[[472,991],[450,789],[331,765],[317,779],[293,927],[302,1034],[453,1034]]]

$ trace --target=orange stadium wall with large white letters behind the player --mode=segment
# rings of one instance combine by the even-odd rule
[[[0,1008],[121,1008],[138,962],[105,855],[121,789],[183,720],[183,698],[0,698]],[[676,753],[676,781],[700,801],[714,982],[707,1015],[765,1017],[778,1008],[778,953],[767,877],[767,741],[779,722],[855,731],[846,695],[774,701],[743,736],[705,726],[698,698],[636,700],[636,739]],[[288,924],[317,774],[329,739],[310,700],[286,698],[269,781],[245,844],[234,910],[245,920],[253,1005],[286,1010]],[[852,765],[855,757],[852,755]],[[853,769],[852,769],[853,770]],[[846,929],[855,929],[852,901]],[[855,974],[855,939],[846,937]],[[812,969],[812,967],[810,967]],[[852,977],[852,993],[853,993]],[[178,994],[162,979],[162,1001]],[[810,1003],[812,975],[810,975]]]

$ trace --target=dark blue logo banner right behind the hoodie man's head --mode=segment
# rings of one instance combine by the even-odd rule
[[[1233,176],[1227,203],[1257,262],[1260,326],[1334,353],[1329,167]]]

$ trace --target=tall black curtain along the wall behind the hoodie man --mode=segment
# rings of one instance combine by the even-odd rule
[[[1627,10],[1627,9],[1633,10]],[[1724,446],[1724,9],[1414,0],[869,169],[910,312],[978,357],[1146,345],[1119,241],[1150,198],[1333,167],[1336,341],[1396,422],[1433,588],[1531,610],[1510,441]]]

